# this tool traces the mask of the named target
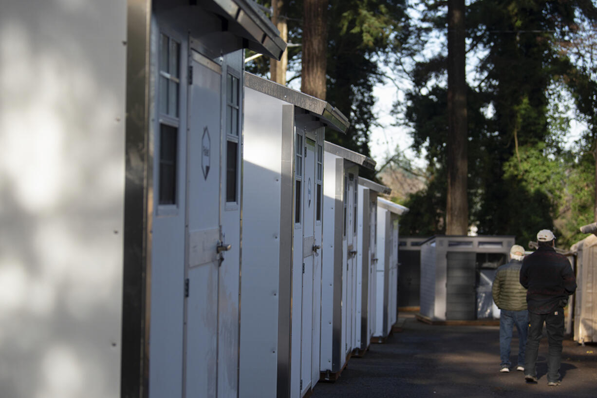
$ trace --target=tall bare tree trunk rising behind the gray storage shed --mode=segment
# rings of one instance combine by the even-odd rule
[[[466,235],[469,229],[464,10],[464,0],[448,0],[447,235]]]

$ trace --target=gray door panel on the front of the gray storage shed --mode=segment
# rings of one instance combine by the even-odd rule
[[[476,253],[448,252],[446,258],[446,319],[475,319]]]

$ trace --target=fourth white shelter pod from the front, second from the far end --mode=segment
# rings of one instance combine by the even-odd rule
[[[356,344],[354,356],[367,351],[375,330],[376,262],[377,262],[377,196],[392,190],[359,177],[356,253]]]

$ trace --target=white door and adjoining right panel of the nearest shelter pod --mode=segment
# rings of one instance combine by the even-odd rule
[[[223,84],[236,95],[232,102],[240,85],[223,81],[221,66],[195,51],[190,66],[184,390],[187,397],[229,397],[238,390],[239,242],[226,241],[226,232],[238,236],[239,219],[223,222],[221,213],[239,212],[239,143],[221,129],[221,106]]]

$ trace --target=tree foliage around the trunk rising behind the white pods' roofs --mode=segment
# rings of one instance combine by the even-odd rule
[[[263,2],[269,7],[269,2]],[[346,115],[346,134],[326,131],[326,139],[344,148],[370,155],[369,134],[376,123],[373,87],[384,80],[378,62],[389,62],[408,34],[406,0],[330,0],[328,8],[327,100]],[[303,2],[285,1],[282,15],[288,16],[288,42],[302,41]],[[300,77],[301,47],[288,48],[290,79]],[[247,71],[269,75],[269,63],[259,57],[246,65]],[[375,179],[374,172],[362,175]]]

